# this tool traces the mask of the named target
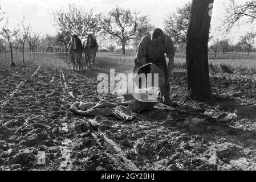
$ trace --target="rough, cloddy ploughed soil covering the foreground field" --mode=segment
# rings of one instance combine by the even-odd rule
[[[96,60],[74,72],[64,56],[40,55],[26,65],[1,60],[0,170],[255,170],[256,77],[211,73],[217,102],[186,97],[185,69],[174,69],[172,99],[132,121],[85,118],[75,101],[120,102],[99,95],[97,73],[132,65]],[[46,154],[39,165],[38,154]]]

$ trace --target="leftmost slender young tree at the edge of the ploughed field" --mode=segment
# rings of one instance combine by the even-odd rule
[[[9,20],[7,18],[6,20],[6,23],[5,23],[5,26],[2,27],[2,31],[0,32],[0,34],[3,36],[3,38],[5,38],[9,44],[10,44],[10,50],[11,50],[11,63],[10,65],[12,67],[15,67],[15,63],[13,61],[13,42],[14,42],[14,39],[16,37],[16,35],[19,33],[19,30],[18,28],[15,28],[13,30],[10,30],[9,28]]]

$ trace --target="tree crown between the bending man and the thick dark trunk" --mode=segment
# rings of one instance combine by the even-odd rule
[[[166,34],[173,38],[176,44],[185,46],[186,32],[189,26],[191,3],[179,7],[173,14],[168,14],[164,19],[164,30]]]

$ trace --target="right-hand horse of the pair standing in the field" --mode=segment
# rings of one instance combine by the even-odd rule
[[[92,65],[95,64],[96,53],[99,49],[97,40],[94,35],[88,34],[87,43],[84,47],[84,58],[86,60],[87,68],[92,69]]]

